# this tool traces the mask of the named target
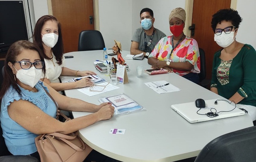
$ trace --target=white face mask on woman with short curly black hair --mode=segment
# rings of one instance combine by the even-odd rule
[[[214,41],[220,46],[220,47],[228,47],[231,45],[231,43],[234,42],[234,32],[230,32],[229,34],[226,34],[224,31],[220,35],[214,34]]]

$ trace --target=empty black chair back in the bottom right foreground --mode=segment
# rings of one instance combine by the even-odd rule
[[[256,127],[237,130],[210,141],[195,162],[256,162]]]

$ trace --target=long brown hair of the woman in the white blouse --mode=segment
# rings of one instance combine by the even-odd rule
[[[63,49],[63,40],[62,40],[62,34],[61,34],[61,24],[56,19],[56,17],[52,15],[44,15],[37,20],[37,23],[35,25],[35,29],[33,32],[33,42],[43,51],[44,58],[46,58],[47,60],[50,60],[51,58],[49,58],[44,51],[43,41],[41,36],[41,31],[46,21],[56,21],[56,23],[58,24],[59,38],[56,45],[52,48],[52,52],[55,55],[57,63],[61,65],[64,49]]]

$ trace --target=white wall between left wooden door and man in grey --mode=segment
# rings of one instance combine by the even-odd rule
[[[121,43],[122,50],[130,51],[131,15],[130,0],[99,0],[100,32],[107,49],[115,45],[115,39]]]

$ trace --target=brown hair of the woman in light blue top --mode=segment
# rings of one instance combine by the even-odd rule
[[[16,61],[16,58],[24,49],[30,49],[33,51],[37,51],[39,53],[41,61],[44,60],[43,53],[37,47],[35,44],[27,41],[27,40],[18,40],[17,42],[13,43],[5,57],[4,61],[4,81],[2,83],[2,88],[0,91],[0,102],[2,101],[2,98],[4,94],[7,92],[9,87],[13,87],[14,90],[16,90],[21,95],[20,87],[17,85],[15,81],[15,76],[13,75],[13,71],[11,70],[11,67],[8,65],[9,62],[14,63]],[[45,65],[42,68],[43,75],[46,73]]]

